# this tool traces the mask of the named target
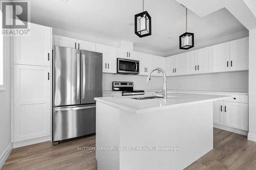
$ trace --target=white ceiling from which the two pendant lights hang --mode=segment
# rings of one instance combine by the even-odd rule
[[[145,0],[152,17],[152,36],[134,34],[134,15],[142,0],[33,0],[31,22],[75,33],[134,42],[135,51],[160,56],[182,53],[179,35],[185,32],[185,8],[174,0]],[[195,48],[248,36],[248,30],[225,8],[204,17],[188,10],[188,32]]]

